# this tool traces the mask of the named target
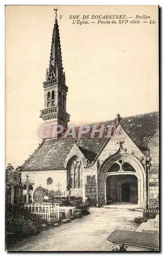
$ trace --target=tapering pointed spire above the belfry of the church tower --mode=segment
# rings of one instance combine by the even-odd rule
[[[63,79],[64,74],[63,74],[59,26],[58,26],[58,20],[57,20],[58,9],[53,9],[53,10],[56,12],[56,17],[55,17],[53,33],[52,33],[49,72],[48,72],[47,80],[53,79],[54,77],[59,78],[59,80],[61,80]]]

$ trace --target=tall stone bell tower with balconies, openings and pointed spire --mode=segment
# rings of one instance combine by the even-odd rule
[[[68,87],[66,86],[65,72],[63,71],[62,52],[60,44],[59,26],[56,18],[52,33],[49,68],[46,69],[44,88],[44,109],[40,117],[44,123],[61,124],[68,126],[70,115],[66,112]]]

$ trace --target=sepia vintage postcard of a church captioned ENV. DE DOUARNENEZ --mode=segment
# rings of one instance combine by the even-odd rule
[[[158,6],[6,6],[6,250],[158,251]]]

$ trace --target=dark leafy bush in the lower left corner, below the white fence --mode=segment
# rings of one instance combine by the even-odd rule
[[[47,223],[37,215],[30,214],[19,205],[6,205],[6,247],[17,240],[34,236],[40,231],[41,224]]]

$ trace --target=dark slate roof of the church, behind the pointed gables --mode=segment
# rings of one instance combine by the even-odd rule
[[[97,127],[101,124],[116,125],[116,120],[108,120],[105,122],[94,123]],[[140,148],[141,151],[148,150],[148,141],[153,137],[159,129],[159,114],[158,112],[151,112],[135,116],[123,117],[120,122],[121,126],[133,140],[133,142]],[[93,125],[93,124],[89,124]],[[78,134],[79,127],[76,127],[76,134]],[[98,136],[90,138],[90,134],[85,134],[81,138],[76,138],[76,144],[81,153],[93,161],[100,152],[107,138],[99,138]],[[97,134],[98,135],[98,134]],[[43,170],[43,169],[62,169],[64,168],[64,160],[69,154],[75,138],[50,138],[44,139],[38,146],[37,150],[32,156],[25,161],[20,170]]]

